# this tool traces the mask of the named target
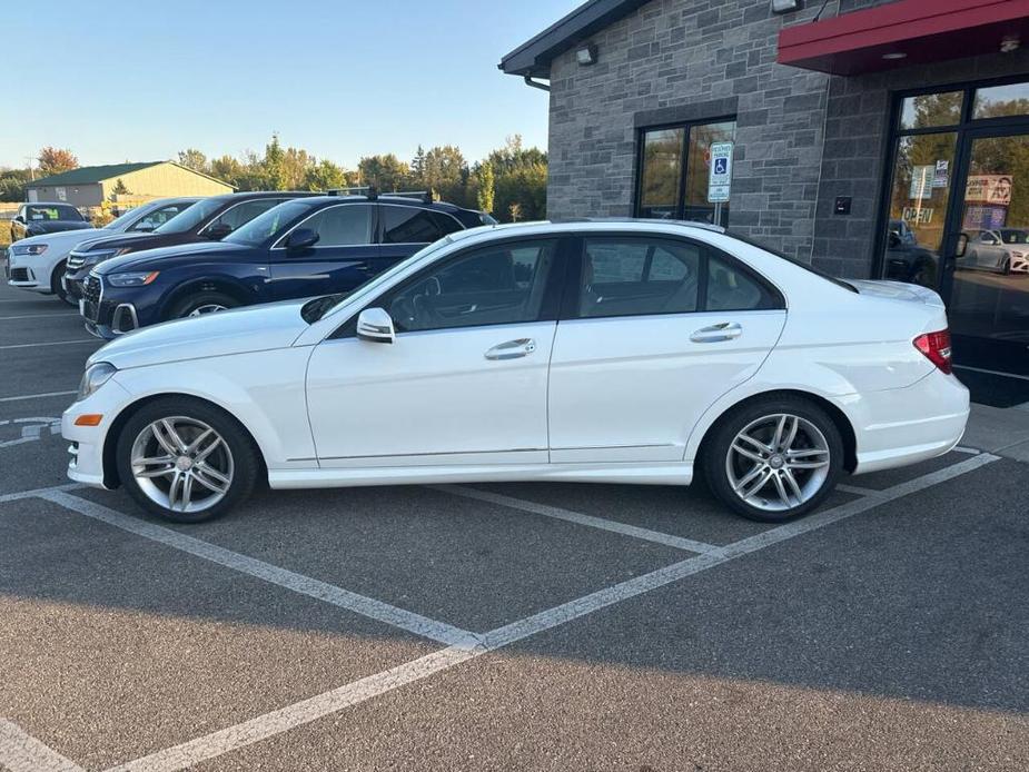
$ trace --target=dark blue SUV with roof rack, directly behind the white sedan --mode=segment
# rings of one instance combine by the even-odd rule
[[[492,221],[492,218],[491,218]],[[269,209],[218,243],[107,260],[82,316],[103,338],[184,316],[353,289],[481,212],[399,196],[318,196]]]

